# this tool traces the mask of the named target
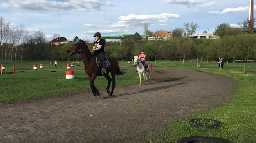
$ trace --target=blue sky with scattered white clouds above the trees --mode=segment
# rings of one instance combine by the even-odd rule
[[[72,41],[94,40],[94,33],[123,35],[148,30],[172,31],[184,23],[198,24],[195,34],[227,23],[237,26],[249,17],[250,0],[0,0],[0,16],[29,34],[40,30]],[[254,6],[254,9],[256,6]],[[254,13],[255,15],[255,13]]]

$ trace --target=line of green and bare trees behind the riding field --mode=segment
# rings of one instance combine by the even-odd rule
[[[245,30],[248,22],[245,20],[239,23]],[[144,32],[148,30],[145,24]],[[244,34],[241,29],[220,24],[214,31],[220,39],[188,39],[187,36],[194,34],[197,23],[185,23],[184,28],[175,28],[172,31],[173,37],[168,41],[141,41],[139,33],[135,33],[135,41],[107,42],[106,56],[119,60],[132,60],[133,56],[139,55],[143,49],[146,52],[147,60],[187,60],[200,59],[203,61],[216,61],[219,57],[235,59],[256,58],[256,35]],[[186,31],[186,32],[185,32]],[[207,31],[205,31],[207,32]],[[59,35],[54,34],[55,37]],[[53,38],[55,38],[53,37]],[[81,56],[68,56],[66,50],[76,42],[63,45],[50,45],[45,34],[36,31],[32,35],[25,26],[11,26],[0,17],[0,61],[16,62],[22,60],[81,60]],[[80,39],[78,39],[80,40]],[[92,43],[88,44],[92,48]]]

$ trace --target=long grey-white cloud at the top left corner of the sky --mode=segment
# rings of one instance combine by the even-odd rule
[[[31,11],[50,12],[53,10],[74,10],[78,12],[100,10],[101,4],[98,0],[9,0],[8,3],[0,3],[2,8],[17,8]]]

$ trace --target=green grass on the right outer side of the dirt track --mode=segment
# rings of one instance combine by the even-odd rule
[[[199,69],[204,72],[225,75],[237,83],[233,97],[223,106],[213,112],[200,112],[182,121],[170,121],[162,130],[154,133],[152,143],[176,143],[182,137],[206,136],[222,140],[224,143],[256,143],[256,75],[244,74],[244,63],[230,63],[231,66],[218,69],[216,63],[203,63],[196,67],[196,62],[189,63],[156,63],[162,67],[181,67]],[[246,63],[247,71],[256,71],[256,63]],[[223,85],[228,88],[229,85]],[[194,128],[189,124],[190,119],[216,119],[222,126],[214,130]]]

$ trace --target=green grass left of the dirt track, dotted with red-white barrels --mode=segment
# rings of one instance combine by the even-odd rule
[[[16,74],[6,74],[13,71],[13,63],[1,63],[5,65],[4,74],[0,75],[0,102],[11,102],[14,100],[37,98],[43,96],[53,96],[72,91],[90,89],[88,77],[84,67],[75,64],[71,67],[74,71],[74,79],[65,79],[67,63],[58,62],[58,68],[48,61],[25,61],[16,63]],[[116,76],[116,87],[139,83],[138,74],[135,67],[128,62],[119,62],[125,67],[126,74]],[[44,68],[40,69],[39,65]],[[33,65],[38,66],[38,70],[33,70]],[[103,93],[106,92],[108,81],[103,76],[98,76],[94,82],[95,86]],[[111,88],[112,86],[110,86]]]

